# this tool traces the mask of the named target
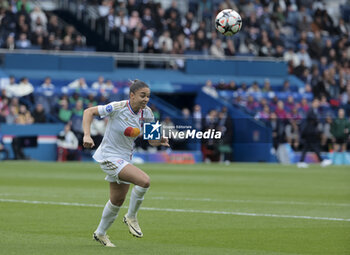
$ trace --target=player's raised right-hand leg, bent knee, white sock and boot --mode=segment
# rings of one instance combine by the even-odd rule
[[[129,231],[136,237],[142,237],[143,233],[137,221],[137,212],[140,209],[144,196],[150,186],[149,176],[136,166],[128,164],[118,175],[120,180],[135,184],[130,195],[128,213],[124,216],[124,223]]]

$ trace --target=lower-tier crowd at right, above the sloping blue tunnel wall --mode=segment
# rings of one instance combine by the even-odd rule
[[[320,150],[350,149],[350,83],[346,91],[334,98],[326,94],[317,97],[311,89],[300,89],[291,86],[288,80],[282,87],[272,87],[268,79],[264,84],[253,82],[250,86],[236,85],[234,81],[213,84],[208,80],[202,88],[208,95],[222,98],[271,127],[276,150],[286,143],[296,151],[302,149],[305,124],[311,113]]]

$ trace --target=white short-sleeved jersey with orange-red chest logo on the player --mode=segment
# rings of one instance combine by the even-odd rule
[[[144,122],[154,122],[152,110],[146,106],[135,113],[129,100],[99,105],[101,117],[109,117],[106,132],[93,158],[103,162],[108,158],[120,158],[131,161],[134,151],[134,141],[143,133]]]

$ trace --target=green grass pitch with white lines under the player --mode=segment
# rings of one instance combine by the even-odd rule
[[[92,241],[108,200],[97,164],[0,162],[0,254],[350,254],[348,166],[139,167],[151,177],[144,237],[124,207],[105,248]]]

